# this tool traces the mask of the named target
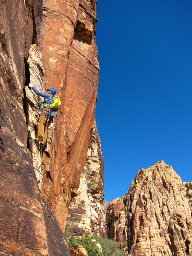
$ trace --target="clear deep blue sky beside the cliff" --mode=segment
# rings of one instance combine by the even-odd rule
[[[105,199],[164,160],[192,181],[192,1],[98,0]]]

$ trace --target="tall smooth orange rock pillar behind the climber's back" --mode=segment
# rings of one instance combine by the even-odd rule
[[[57,89],[62,105],[55,118],[55,166],[52,155],[44,156],[42,192],[62,230],[68,204],[79,187],[95,116],[99,77],[96,20],[96,0],[44,1],[44,84]],[[50,147],[52,152],[52,144]]]

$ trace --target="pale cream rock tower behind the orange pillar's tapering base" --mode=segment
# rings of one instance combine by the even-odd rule
[[[66,235],[86,233],[105,236],[104,165],[101,143],[94,125],[91,132],[87,160],[81,174],[77,196],[73,198],[67,215]]]

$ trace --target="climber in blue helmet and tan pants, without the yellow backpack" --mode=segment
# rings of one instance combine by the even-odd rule
[[[28,86],[29,88],[32,88],[38,96],[44,97],[44,102],[39,98],[39,102],[42,106],[40,108],[40,117],[38,119],[38,133],[35,139],[35,141],[40,141],[40,148],[44,149],[47,141],[48,128],[55,116],[55,112],[50,110],[49,105],[52,104],[53,95],[55,95],[57,91],[54,88],[47,88],[47,93],[41,93],[33,86],[33,84],[29,84]]]

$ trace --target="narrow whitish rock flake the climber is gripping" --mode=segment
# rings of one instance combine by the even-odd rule
[[[44,91],[43,79],[44,79],[44,66],[42,63],[41,53],[39,52],[36,44],[32,44],[29,49],[29,56],[27,59],[27,66],[29,67],[29,78],[30,82],[34,84],[35,88],[39,91]],[[28,146],[32,153],[32,161],[35,170],[35,175],[37,177],[38,186],[42,187],[42,161],[41,153],[38,148],[38,143],[35,143],[34,139],[37,135],[37,111],[40,107],[38,103],[38,97],[29,89],[28,86],[25,87],[25,113],[26,113],[26,123],[28,126]]]

